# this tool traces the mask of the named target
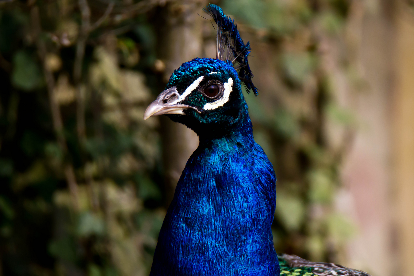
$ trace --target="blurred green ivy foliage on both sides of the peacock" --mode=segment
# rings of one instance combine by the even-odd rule
[[[142,117],[162,83],[165,3],[90,0],[88,15],[82,2],[0,2],[0,275],[149,273],[166,196],[159,121]],[[246,100],[277,171],[277,251],[335,259],[354,228],[332,207],[341,152],[324,122],[355,118],[335,104],[318,36],[340,34],[349,2],[218,4],[274,49],[278,86],[259,77]]]

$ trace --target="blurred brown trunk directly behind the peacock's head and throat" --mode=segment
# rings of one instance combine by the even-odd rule
[[[201,57],[204,0],[177,1],[164,8],[165,19],[159,40],[160,57],[166,65],[163,84],[183,62]],[[159,91],[161,92],[161,91]],[[177,181],[190,155],[198,146],[197,135],[185,125],[161,116],[166,206],[173,199]]]

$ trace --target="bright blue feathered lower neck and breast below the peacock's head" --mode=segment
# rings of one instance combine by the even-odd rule
[[[255,148],[242,154],[206,149],[192,156],[178,182],[157,245],[157,250],[162,247],[164,252],[175,254],[160,257],[156,252],[154,263],[160,258],[160,262],[164,259],[181,268],[184,262],[184,266],[232,271],[263,266],[272,269],[277,258],[270,229],[274,203],[269,202],[275,200],[274,173],[269,170],[270,181],[262,183],[267,178],[256,171],[262,162]]]

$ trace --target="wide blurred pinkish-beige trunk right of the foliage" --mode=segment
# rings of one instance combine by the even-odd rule
[[[342,170],[349,192],[343,199],[348,198],[347,212],[359,229],[348,243],[345,265],[387,276],[394,269],[389,166],[393,5],[353,1],[350,10],[348,45],[365,84],[354,85],[339,99],[368,127],[356,133]]]

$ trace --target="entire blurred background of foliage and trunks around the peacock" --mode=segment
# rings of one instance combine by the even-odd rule
[[[253,48],[277,252],[414,275],[414,2],[211,2]],[[149,274],[198,139],[142,117],[215,57],[207,3],[0,0],[1,276]]]

